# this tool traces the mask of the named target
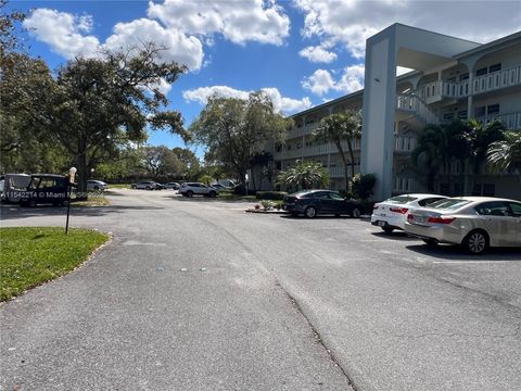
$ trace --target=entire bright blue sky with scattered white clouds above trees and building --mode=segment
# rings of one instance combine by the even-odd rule
[[[191,70],[164,86],[186,126],[211,93],[265,89],[279,111],[292,114],[358,90],[365,40],[396,22],[478,42],[521,26],[519,1],[11,0],[8,9],[33,10],[24,37],[29,53],[51,68],[137,39],[168,47],[165,56]],[[183,147],[160,131],[149,143]]]

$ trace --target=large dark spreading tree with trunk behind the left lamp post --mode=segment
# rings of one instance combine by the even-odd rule
[[[60,70],[55,87],[47,91],[47,110],[34,125],[75,157],[79,192],[87,188],[90,160],[114,151],[122,140],[142,142],[147,128],[189,139],[180,113],[164,110],[167,99],[157,87],[161,79],[174,83],[186,68],[161,62],[161,51],[147,43],[102,59],[76,59]]]

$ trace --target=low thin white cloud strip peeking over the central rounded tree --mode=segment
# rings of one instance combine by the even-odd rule
[[[262,91],[271,98],[271,101],[274,102],[274,108],[278,112],[294,113],[309,109],[312,106],[312,101],[307,97],[304,97],[300,100],[285,98],[281,96],[280,91],[277,88],[263,88]],[[200,104],[206,104],[208,102],[208,98],[213,96],[223,98],[247,99],[251,92],[253,91],[238,90],[228,86],[212,86],[200,87],[193,90],[183,91],[182,97],[188,102],[199,102]]]

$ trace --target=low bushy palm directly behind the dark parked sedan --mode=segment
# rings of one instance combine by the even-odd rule
[[[296,161],[293,167],[289,167],[277,177],[278,185],[285,185],[302,188],[304,190],[314,187],[327,187],[329,185],[329,174],[321,163]]]

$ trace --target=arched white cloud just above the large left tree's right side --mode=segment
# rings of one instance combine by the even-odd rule
[[[142,42],[152,41],[166,50],[161,52],[162,61],[176,61],[198,71],[203,63],[203,45],[195,37],[187,37],[175,29],[167,29],[157,22],[140,18],[130,23],[118,23],[114,26],[104,47],[110,50],[139,47]]]

